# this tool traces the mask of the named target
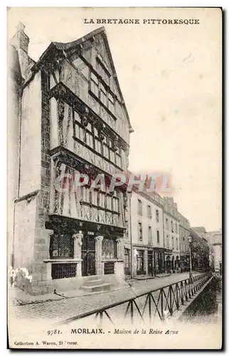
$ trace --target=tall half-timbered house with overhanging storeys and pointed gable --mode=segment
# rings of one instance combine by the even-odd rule
[[[123,278],[127,193],[110,194],[107,187],[112,174],[128,167],[132,127],[105,29],[50,43],[36,63],[28,41],[21,26],[12,43],[23,82],[14,215],[18,286],[40,294],[81,286],[87,276]],[[80,174],[89,177],[84,186]],[[92,188],[98,174],[105,183]]]

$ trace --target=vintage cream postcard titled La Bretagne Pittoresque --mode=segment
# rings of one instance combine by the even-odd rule
[[[12,349],[222,347],[222,9],[8,9]]]

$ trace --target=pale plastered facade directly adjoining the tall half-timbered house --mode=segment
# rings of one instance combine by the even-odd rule
[[[124,271],[133,276],[155,276],[164,272],[163,205],[159,194],[132,189],[130,233],[124,239]],[[132,256],[131,256],[132,253]]]

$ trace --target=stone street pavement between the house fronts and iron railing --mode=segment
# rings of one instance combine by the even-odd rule
[[[50,300],[50,295],[44,296],[46,300],[41,300],[41,295],[39,296],[40,300],[37,299],[38,297],[29,296],[30,300],[24,305],[16,305],[9,302],[9,315],[14,315],[14,318],[17,319],[52,320],[55,323],[97,308],[104,308],[112,303],[134,298],[142,293],[168,286],[171,283],[176,283],[186,278],[188,278],[188,273],[178,273],[164,278],[147,279],[144,281],[131,280],[128,281],[130,284],[129,288],[83,296],[70,296],[68,294],[68,298],[59,296],[59,299],[56,299],[55,296],[53,300]],[[12,301],[12,298],[9,298],[9,300]]]

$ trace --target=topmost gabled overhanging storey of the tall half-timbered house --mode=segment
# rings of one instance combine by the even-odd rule
[[[50,43],[32,68],[33,71],[40,69],[50,75],[51,93],[52,90],[53,93],[57,89],[60,91],[64,85],[65,90],[77,95],[92,110],[95,121],[96,116],[102,119],[104,131],[110,131],[111,137],[116,133],[127,148],[129,133],[133,130],[105,28],[98,28],[70,43]]]

